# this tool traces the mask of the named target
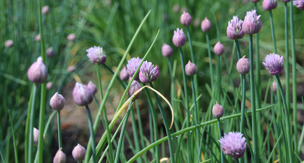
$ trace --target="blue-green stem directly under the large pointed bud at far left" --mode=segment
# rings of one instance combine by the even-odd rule
[[[35,99],[36,99],[37,85],[34,85],[33,89],[33,100],[31,105],[31,115],[29,122],[29,156],[28,162],[33,162],[33,131],[34,131],[34,119],[35,119]],[[40,134],[39,134],[40,135]],[[41,134],[42,135],[42,134]]]

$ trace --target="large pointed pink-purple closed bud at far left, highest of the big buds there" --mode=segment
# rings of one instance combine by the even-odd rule
[[[48,70],[43,63],[42,57],[38,57],[37,61],[34,62],[27,72],[28,78],[35,84],[42,84],[48,78]]]

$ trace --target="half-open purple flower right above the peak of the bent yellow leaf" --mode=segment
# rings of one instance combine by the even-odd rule
[[[152,62],[144,61],[143,65],[140,67],[139,80],[144,84],[148,84],[155,81],[158,78],[158,75],[157,65],[154,68]]]

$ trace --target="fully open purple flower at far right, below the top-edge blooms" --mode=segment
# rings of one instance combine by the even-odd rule
[[[278,75],[283,70],[283,56],[272,53],[270,55],[266,55],[266,58],[263,62],[266,70],[269,71],[271,75]]]

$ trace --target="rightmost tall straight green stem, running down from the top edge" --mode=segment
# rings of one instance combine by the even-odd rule
[[[291,64],[291,68],[292,68],[292,110],[293,110],[293,122],[295,123],[293,125],[294,127],[294,135],[295,135],[295,151],[297,154],[300,153],[300,146],[298,146],[298,130],[296,129],[297,127],[297,117],[296,117],[296,49],[295,49],[295,31],[294,31],[294,24],[293,24],[293,5],[290,2],[290,37],[291,37],[291,56],[292,56],[292,64]],[[297,148],[296,148],[297,147]]]

